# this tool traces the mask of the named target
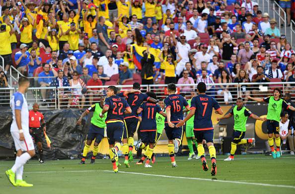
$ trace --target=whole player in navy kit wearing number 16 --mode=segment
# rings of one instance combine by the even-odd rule
[[[176,85],[169,83],[168,96],[164,99],[166,105],[165,132],[168,137],[168,152],[171,158],[172,168],[177,167],[174,153],[178,152],[182,139],[182,127],[175,127],[179,120],[183,120],[183,107],[189,110],[187,101],[176,93]]]

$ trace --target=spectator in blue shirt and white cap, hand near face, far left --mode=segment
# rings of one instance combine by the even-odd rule
[[[20,51],[15,53],[15,64],[17,65],[17,70],[21,74],[26,71],[27,65],[30,63],[30,53],[28,52],[28,46],[26,44],[21,44],[19,46]]]

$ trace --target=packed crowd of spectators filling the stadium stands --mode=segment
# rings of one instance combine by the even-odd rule
[[[295,81],[295,51],[252,0],[0,0],[0,8],[0,87],[9,65],[35,77],[35,87],[81,86],[72,101],[92,99],[87,86],[134,81]],[[217,89],[225,103],[227,87]],[[48,93],[41,90],[43,102]]]

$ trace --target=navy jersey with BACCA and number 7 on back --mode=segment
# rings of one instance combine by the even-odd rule
[[[211,120],[212,110],[220,109],[218,102],[206,94],[200,94],[193,97],[191,109],[196,109],[194,119],[194,130],[209,130],[213,129]]]

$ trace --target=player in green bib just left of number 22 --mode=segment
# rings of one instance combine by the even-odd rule
[[[87,140],[85,142],[85,146],[83,149],[82,159],[79,164],[85,164],[85,159],[86,159],[89,147],[94,139],[95,139],[95,141],[94,141],[94,145],[93,145],[93,153],[92,153],[90,164],[95,163],[95,157],[98,152],[98,145],[104,137],[104,128],[106,127],[106,124],[105,124],[106,114],[103,115],[103,118],[99,117],[99,114],[102,112],[104,99],[105,99],[105,96],[101,96],[100,103],[95,103],[95,104],[91,105],[88,109],[86,109],[82,113],[82,115],[80,116],[80,118],[77,121],[77,125],[80,125],[82,122],[82,118],[84,116],[88,115],[88,113],[93,112],[93,115],[91,118],[91,125],[89,127],[87,138],[86,138]]]

